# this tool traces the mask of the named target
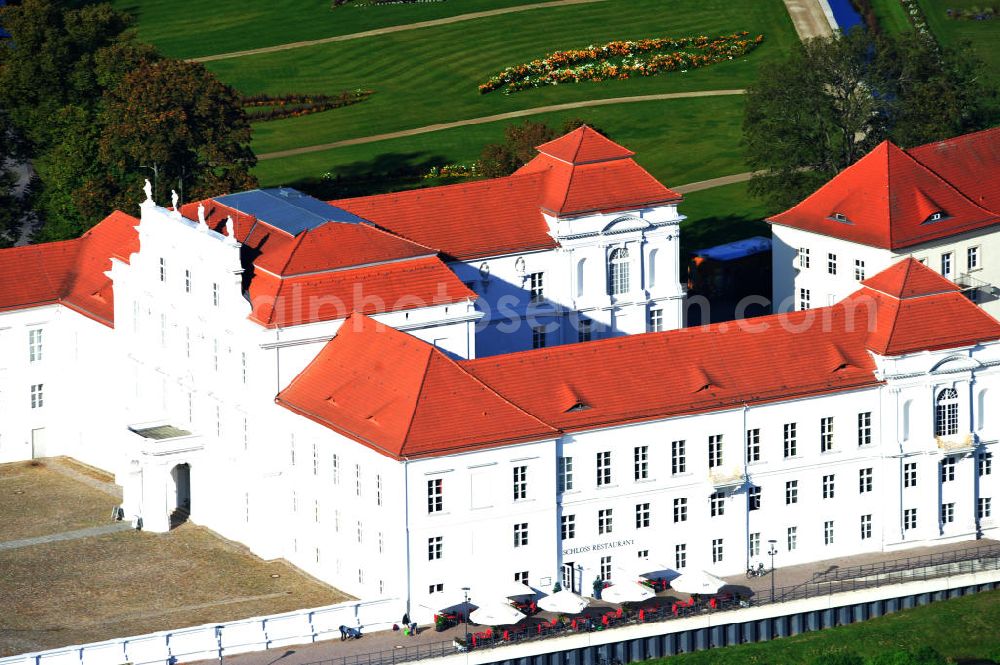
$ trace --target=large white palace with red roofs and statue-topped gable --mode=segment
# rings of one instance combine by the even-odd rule
[[[588,128],[496,180],[147,194],[0,252],[0,460],[70,455],[147,530],[189,515],[415,616],[993,532],[1000,322],[903,259],[683,328],[680,202]]]

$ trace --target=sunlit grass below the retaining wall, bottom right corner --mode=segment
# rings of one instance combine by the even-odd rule
[[[930,646],[951,662],[1000,658],[1000,591],[978,593],[914,608],[851,626],[841,626],[758,644],[743,644],[649,661],[669,665],[740,663],[799,665],[820,655]]]

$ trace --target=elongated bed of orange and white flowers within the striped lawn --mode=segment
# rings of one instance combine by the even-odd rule
[[[746,55],[764,41],[764,35],[748,35],[744,31],[711,38],[662,37],[556,51],[542,60],[508,67],[480,85],[479,92],[485,95],[503,90],[509,95],[543,85],[656,76],[677,69],[707,67]]]

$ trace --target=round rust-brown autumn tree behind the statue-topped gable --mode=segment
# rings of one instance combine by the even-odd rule
[[[126,74],[104,102],[99,154],[118,182],[134,187],[147,167],[161,201],[171,188],[200,198],[256,186],[240,96],[203,65],[146,64]]]

